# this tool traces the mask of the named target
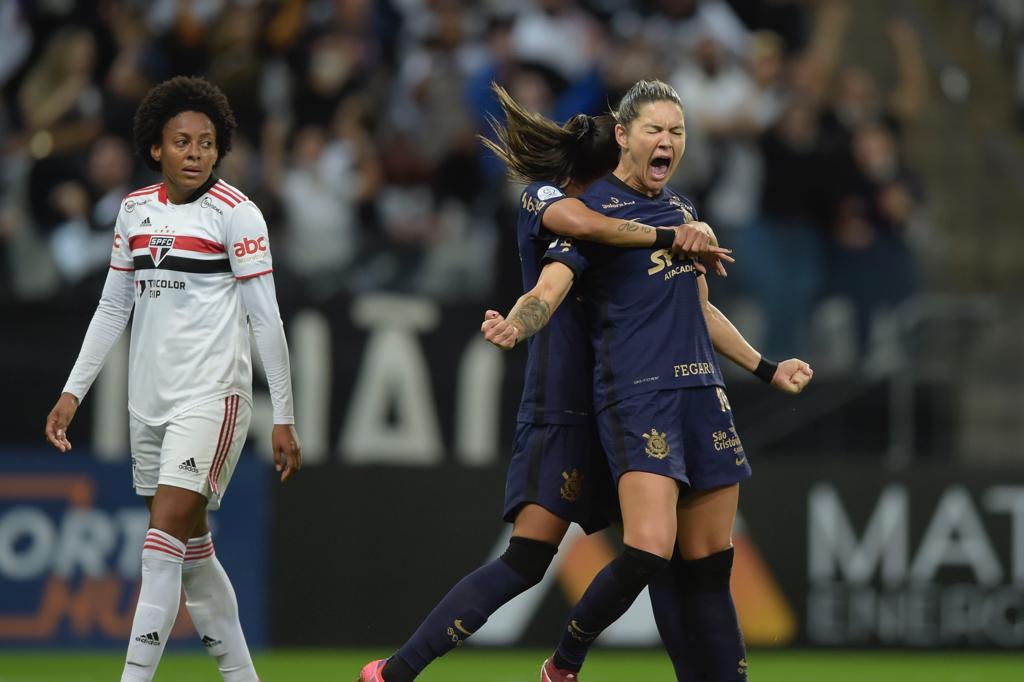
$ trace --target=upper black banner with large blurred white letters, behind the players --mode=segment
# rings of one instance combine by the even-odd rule
[[[496,301],[496,307],[512,301]],[[95,301],[0,305],[0,447],[42,442],[42,425],[74,365]],[[500,466],[511,442],[525,350],[503,353],[479,328],[483,306],[392,295],[326,303],[284,300],[296,416],[307,465]],[[76,417],[76,446],[127,458],[127,334]],[[880,457],[890,444],[885,380],[815,377],[786,398],[723,363],[730,402],[755,453]],[[269,398],[257,372],[251,432],[269,455]],[[15,388],[16,390],[11,390]],[[914,442],[945,452],[956,420],[944,386],[918,384]]]

